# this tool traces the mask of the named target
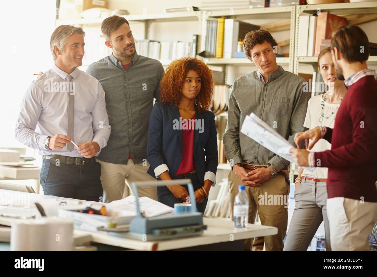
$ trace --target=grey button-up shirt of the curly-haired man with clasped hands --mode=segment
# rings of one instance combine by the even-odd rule
[[[270,164],[280,171],[289,164],[240,130],[246,115],[253,112],[294,145],[294,134],[305,130],[303,122],[310,95],[303,92],[304,82],[281,66],[268,76],[267,83],[258,70],[234,81],[224,134],[225,156],[231,165]]]

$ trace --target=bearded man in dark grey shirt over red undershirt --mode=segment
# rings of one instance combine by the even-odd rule
[[[155,180],[146,172],[147,137],[153,98],[159,101],[162,64],[139,56],[132,31],[124,17],[111,16],[101,26],[106,46],[112,54],[91,64],[87,73],[100,81],[112,133],[106,150],[98,156],[102,165],[104,202],[129,194],[125,181]],[[140,196],[157,200],[156,188],[140,188]]]

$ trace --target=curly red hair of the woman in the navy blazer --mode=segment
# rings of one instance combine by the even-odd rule
[[[199,112],[203,109],[208,110],[213,92],[212,72],[204,62],[197,58],[181,58],[169,64],[160,81],[161,102],[178,107],[183,83],[189,70],[195,70],[202,83],[200,92],[195,98],[195,104]]]

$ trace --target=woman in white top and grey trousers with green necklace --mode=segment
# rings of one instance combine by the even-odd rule
[[[330,47],[320,52],[317,64],[328,90],[322,95],[310,98],[304,127],[308,129],[317,126],[333,128],[336,112],[347,88],[343,81],[336,78]],[[320,139],[310,151],[320,152],[328,149],[331,149],[331,144],[325,139]],[[326,167],[316,167],[313,172],[300,168],[294,184],[296,207],[283,251],[307,251],[322,221],[325,227],[326,251],[331,251],[329,222],[326,214],[327,171]]]

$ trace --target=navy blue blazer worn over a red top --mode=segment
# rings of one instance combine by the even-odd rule
[[[195,109],[195,119],[204,119],[203,132],[199,133],[196,126],[194,131],[195,168],[198,179],[204,183],[206,172],[210,171],[214,175],[209,174],[215,176],[219,164],[215,114],[208,110],[199,113],[196,107]],[[167,165],[170,177],[173,177],[181,164],[183,153],[182,130],[173,129],[173,120],[179,121],[179,117],[179,109],[175,105],[159,102],[153,106],[149,119],[147,140],[147,159],[150,164],[147,173],[154,178],[156,178],[154,172],[156,167],[163,164]]]

